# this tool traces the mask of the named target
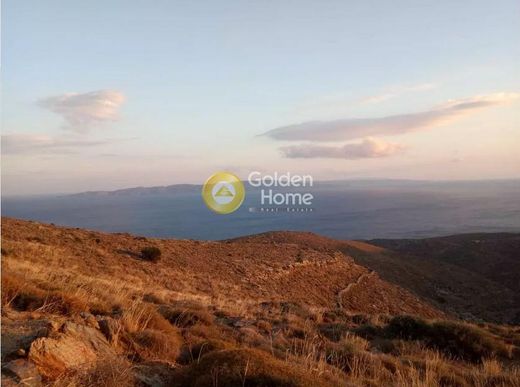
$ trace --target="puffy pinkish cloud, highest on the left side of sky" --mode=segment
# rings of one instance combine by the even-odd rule
[[[118,119],[125,95],[116,90],[67,93],[44,98],[38,104],[63,117],[65,129],[87,132],[93,126]]]

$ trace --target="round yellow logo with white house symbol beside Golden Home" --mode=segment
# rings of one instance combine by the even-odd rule
[[[217,172],[202,186],[202,199],[210,210],[218,214],[236,211],[246,195],[242,181],[229,172]]]

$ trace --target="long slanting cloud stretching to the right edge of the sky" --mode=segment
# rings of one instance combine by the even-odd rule
[[[374,135],[395,135],[450,122],[480,109],[520,97],[518,93],[496,93],[450,100],[431,110],[379,118],[348,118],[309,121],[272,129],[263,135],[276,140],[345,141]]]

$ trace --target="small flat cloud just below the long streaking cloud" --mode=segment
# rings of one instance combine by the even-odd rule
[[[282,147],[280,150],[285,157],[291,159],[327,158],[355,160],[392,156],[403,151],[404,146],[369,137],[359,143],[346,144],[340,147],[302,144]]]

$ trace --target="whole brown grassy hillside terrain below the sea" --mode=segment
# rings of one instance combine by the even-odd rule
[[[479,254],[485,236],[197,241],[3,218],[3,385],[520,385],[518,236],[488,237]]]

